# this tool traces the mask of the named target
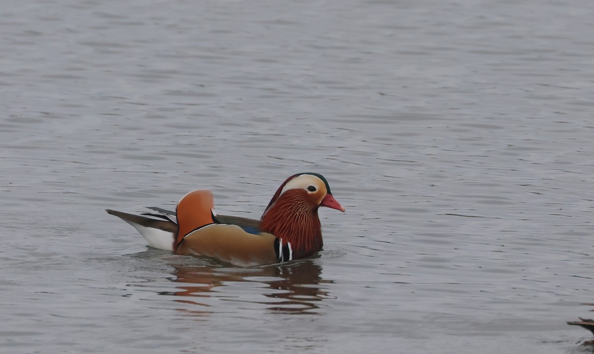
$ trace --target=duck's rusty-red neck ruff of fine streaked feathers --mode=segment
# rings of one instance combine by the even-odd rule
[[[286,191],[268,208],[260,222],[264,232],[290,243],[293,259],[320,251],[323,246],[318,206],[312,206],[302,191]]]

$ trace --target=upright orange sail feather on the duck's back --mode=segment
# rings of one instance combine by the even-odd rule
[[[202,226],[216,223],[214,219],[214,198],[211,191],[198,189],[184,195],[176,207],[179,231],[176,242],[179,245],[188,233]]]

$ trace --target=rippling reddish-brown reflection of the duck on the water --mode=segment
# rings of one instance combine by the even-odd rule
[[[253,301],[267,305],[267,308],[286,313],[311,313],[319,307],[318,302],[327,298],[327,292],[320,289],[321,283],[331,283],[320,277],[321,268],[315,260],[302,260],[293,263],[252,268],[229,268],[220,266],[175,266],[175,282],[188,283],[179,285],[175,296],[184,296],[179,302],[204,305],[199,299],[224,292],[222,287],[229,282],[259,283],[268,287],[258,287],[261,295],[269,300]],[[190,285],[191,284],[191,285]],[[235,284],[236,285],[236,284]],[[241,301],[241,299],[239,299]],[[247,301],[247,300],[246,300]]]

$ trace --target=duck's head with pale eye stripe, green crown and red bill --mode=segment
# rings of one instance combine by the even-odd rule
[[[318,207],[328,207],[345,212],[345,207],[334,199],[328,181],[320,173],[297,173],[287,178],[268,203],[264,214],[281,197],[294,201],[295,205],[302,207],[308,205],[312,210],[317,210]],[[304,201],[307,203],[303,203]]]

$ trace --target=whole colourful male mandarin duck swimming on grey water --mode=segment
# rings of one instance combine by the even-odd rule
[[[217,215],[213,194],[189,192],[175,213],[133,215],[107,210],[134,226],[150,246],[175,254],[203,255],[241,266],[296,260],[320,251],[320,206],[345,211],[324,176],[298,173],[280,185],[260,221]],[[150,217],[147,217],[150,216]]]

